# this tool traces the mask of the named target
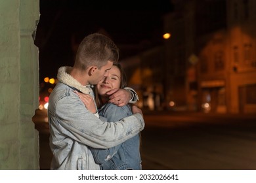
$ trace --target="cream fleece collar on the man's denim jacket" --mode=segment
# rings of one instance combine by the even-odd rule
[[[82,93],[89,94],[92,92],[91,85],[83,86],[75,78],[73,78],[69,73],[72,70],[72,67],[64,66],[58,69],[58,81],[68,86],[74,87]]]

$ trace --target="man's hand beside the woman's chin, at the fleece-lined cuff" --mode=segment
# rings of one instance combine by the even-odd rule
[[[127,105],[127,103],[129,103],[129,100],[131,99],[131,93],[125,89],[113,89],[106,94],[110,95],[110,97],[108,98],[108,102],[114,103],[114,105],[117,105],[119,107]]]

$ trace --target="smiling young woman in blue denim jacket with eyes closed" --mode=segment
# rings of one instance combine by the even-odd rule
[[[112,89],[125,88],[127,84],[125,73],[121,65],[115,64],[109,71],[109,75],[98,82],[96,86],[96,104],[98,106],[98,114],[101,118],[105,118],[107,122],[116,122],[125,117],[131,116],[131,106],[124,105],[118,107],[113,103],[108,103],[106,93]],[[79,97],[84,101],[85,107],[91,112],[95,112],[94,103],[89,103],[83,99],[83,94],[79,93]],[[111,169],[141,169],[140,158],[140,134],[128,139],[127,141],[108,149],[91,148],[96,163],[100,164],[103,170]]]

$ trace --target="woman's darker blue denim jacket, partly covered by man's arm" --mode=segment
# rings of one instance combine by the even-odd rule
[[[106,118],[108,122],[116,122],[132,114],[129,105],[117,107],[112,103],[106,103],[99,109],[99,115]],[[103,170],[141,169],[140,134],[114,148],[106,150],[91,148],[91,152],[96,163],[100,163],[100,168]]]

